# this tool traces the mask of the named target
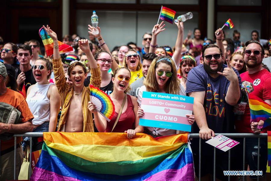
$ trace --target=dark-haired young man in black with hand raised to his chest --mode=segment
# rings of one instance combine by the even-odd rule
[[[27,92],[27,89],[30,87],[30,85],[36,84],[36,80],[30,65],[30,60],[32,57],[32,49],[30,46],[18,46],[17,59],[20,63],[20,67],[15,71],[15,78],[17,78],[19,90],[22,90],[23,85],[25,85],[25,92]]]

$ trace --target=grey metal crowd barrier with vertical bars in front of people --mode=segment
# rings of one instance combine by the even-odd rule
[[[223,135],[229,138],[244,138],[244,143],[243,143],[243,170],[245,170],[245,145],[246,145],[246,138],[258,138],[258,163],[257,167],[260,167],[260,138],[266,138],[267,133],[262,133],[262,134],[253,134],[253,133],[216,133],[215,135]],[[14,180],[16,179],[16,137],[21,137],[21,136],[29,136],[30,137],[30,157],[29,157],[29,175],[31,175],[31,159],[32,159],[32,137],[41,137],[43,136],[42,132],[28,132],[24,134],[16,134],[14,135]],[[199,134],[197,133],[192,133],[190,134],[190,138],[199,138]],[[228,170],[230,171],[230,163],[231,163],[231,150],[228,151]],[[0,162],[1,164],[1,162]],[[214,147],[214,174],[213,174],[213,180],[216,180],[216,148]],[[1,168],[1,165],[0,165]],[[200,172],[201,172],[201,139],[199,139],[199,181],[201,180],[200,178]],[[230,176],[228,176],[228,180],[230,180]],[[245,180],[245,176],[243,176],[243,180]],[[257,176],[257,180],[259,181],[259,175]]]

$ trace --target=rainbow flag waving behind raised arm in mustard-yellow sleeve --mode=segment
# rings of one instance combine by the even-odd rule
[[[43,29],[43,27],[41,27],[39,29],[39,36],[41,37],[42,39],[42,42],[43,42],[43,45],[44,45],[44,48],[46,50],[46,55],[47,56],[51,56],[53,55],[53,46],[54,46],[54,43],[53,43],[53,40],[52,38],[47,34],[47,32]],[[67,52],[73,52],[73,49],[71,46],[65,44],[65,43],[62,43],[60,41],[58,41],[58,49],[59,49],[59,53],[62,54],[62,53],[67,53]]]

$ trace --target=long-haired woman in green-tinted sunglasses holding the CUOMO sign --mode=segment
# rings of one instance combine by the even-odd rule
[[[184,87],[177,78],[177,71],[174,61],[169,56],[159,56],[153,59],[150,65],[148,74],[144,80],[144,85],[140,87],[137,96],[137,102],[141,106],[143,91],[160,92],[167,94],[186,95]],[[139,107],[137,117],[144,115],[144,110]],[[193,124],[195,121],[194,115],[186,115],[188,121]],[[144,133],[153,136],[154,138],[166,135],[181,133],[182,131],[174,129],[163,129],[154,127],[144,127]]]

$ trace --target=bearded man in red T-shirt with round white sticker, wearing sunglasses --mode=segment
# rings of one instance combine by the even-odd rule
[[[244,62],[247,65],[248,71],[240,75],[241,80],[244,83],[251,83],[253,91],[249,94],[259,97],[266,103],[271,105],[271,73],[262,67],[262,60],[264,55],[264,49],[261,44],[256,40],[249,40],[244,47]],[[250,110],[247,103],[244,115],[241,120],[235,122],[235,129],[238,133],[263,133],[257,129],[258,125],[263,125],[263,121],[250,122]],[[249,165],[250,170],[262,170],[263,178],[266,174],[267,163],[267,140],[261,139],[260,141],[260,168],[257,168],[257,156],[258,156],[258,138],[246,139],[246,155],[245,161]],[[242,163],[242,162],[241,162]],[[252,179],[256,179],[257,176],[251,176]]]

